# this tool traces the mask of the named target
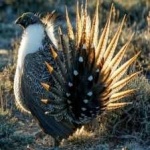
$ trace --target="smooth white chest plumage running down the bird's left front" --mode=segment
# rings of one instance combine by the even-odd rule
[[[34,53],[42,48],[42,41],[44,39],[44,27],[41,24],[34,24],[28,26],[22,36],[18,51],[18,61],[16,67],[16,73],[14,78],[14,94],[16,99],[16,105],[24,112],[29,111],[26,109],[24,102],[22,101],[21,94],[21,76],[23,73],[23,65],[25,56],[29,53]]]

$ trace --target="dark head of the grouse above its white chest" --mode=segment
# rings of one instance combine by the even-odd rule
[[[41,20],[36,14],[27,12],[17,18],[15,23],[21,25],[23,28],[27,28],[29,25],[41,23]]]

